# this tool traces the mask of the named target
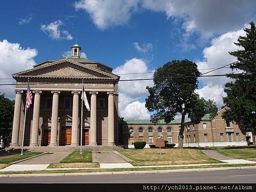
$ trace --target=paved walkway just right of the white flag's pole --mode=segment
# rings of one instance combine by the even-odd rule
[[[113,151],[93,152],[93,162],[97,163],[128,163]]]

